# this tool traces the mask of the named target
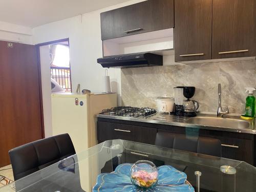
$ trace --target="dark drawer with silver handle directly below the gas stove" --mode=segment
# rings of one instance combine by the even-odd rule
[[[157,129],[119,123],[97,122],[99,141],[123,139],[140,143],[154,144]]]

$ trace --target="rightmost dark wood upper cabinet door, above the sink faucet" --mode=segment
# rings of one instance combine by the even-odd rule
[[[213,0],[212,58],[254,55],[254,0]]]

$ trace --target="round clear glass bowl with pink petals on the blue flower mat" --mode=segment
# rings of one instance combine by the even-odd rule
[[[140,189],[150,189],[156,186],[158,170],[151,161],[140,160],[133,164],[130,171],[132,183]]]

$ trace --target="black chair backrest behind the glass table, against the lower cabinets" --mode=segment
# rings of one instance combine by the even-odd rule
[[[221,157],[221,141],[215,138],[196,137],[160,131],[157,133],[155,145]]]

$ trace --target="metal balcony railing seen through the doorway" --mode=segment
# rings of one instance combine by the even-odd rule
[[[71,92],[70,68],[51,67],[51,78],[57,81],[65,92]]]

